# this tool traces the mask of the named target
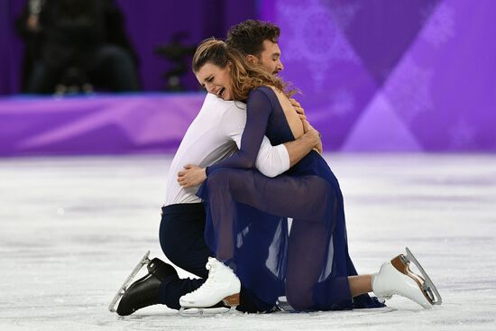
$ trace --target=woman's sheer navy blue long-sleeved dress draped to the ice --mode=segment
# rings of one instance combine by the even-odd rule
[[[368,295],[351,296],[347,277],[356,271],[343,196],[326,161],[312,151],[280,176],[265,177],[254,169],[264,134],[272,145],[295,140],[271,87],[251,91],[240,150],[208,167],[197,192],[216,258],[268,303],[286,296],[299,311],[383,307]]]

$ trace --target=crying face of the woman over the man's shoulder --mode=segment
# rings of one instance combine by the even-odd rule
[[[231,63],[220,68],[211,62],[204,64],[196,73],[202,87],[223,100],[232,100]]]

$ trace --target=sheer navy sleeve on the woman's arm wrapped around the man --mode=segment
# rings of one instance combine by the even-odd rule
[[[253,89],[246,103],[246,125],[239,151],[234,152],[224,161],[207,167],[207,176],[219,168],[251,169],[254,167],[271,111],[269,97],[258,88]]]

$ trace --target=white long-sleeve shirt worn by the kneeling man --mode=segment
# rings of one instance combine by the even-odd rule
[[[170,164],[164,206],[201,201],[196,196],[198,187],[182,188],[179,185],[178,172],[186,164],[205,168],[231,155],[241,145],[245,124],[245,104],[207,94]],[[289,170],[288,150],[283,144],[272,146],[269,139],[263,137],[255,165],[265,176],[275,177]]]

